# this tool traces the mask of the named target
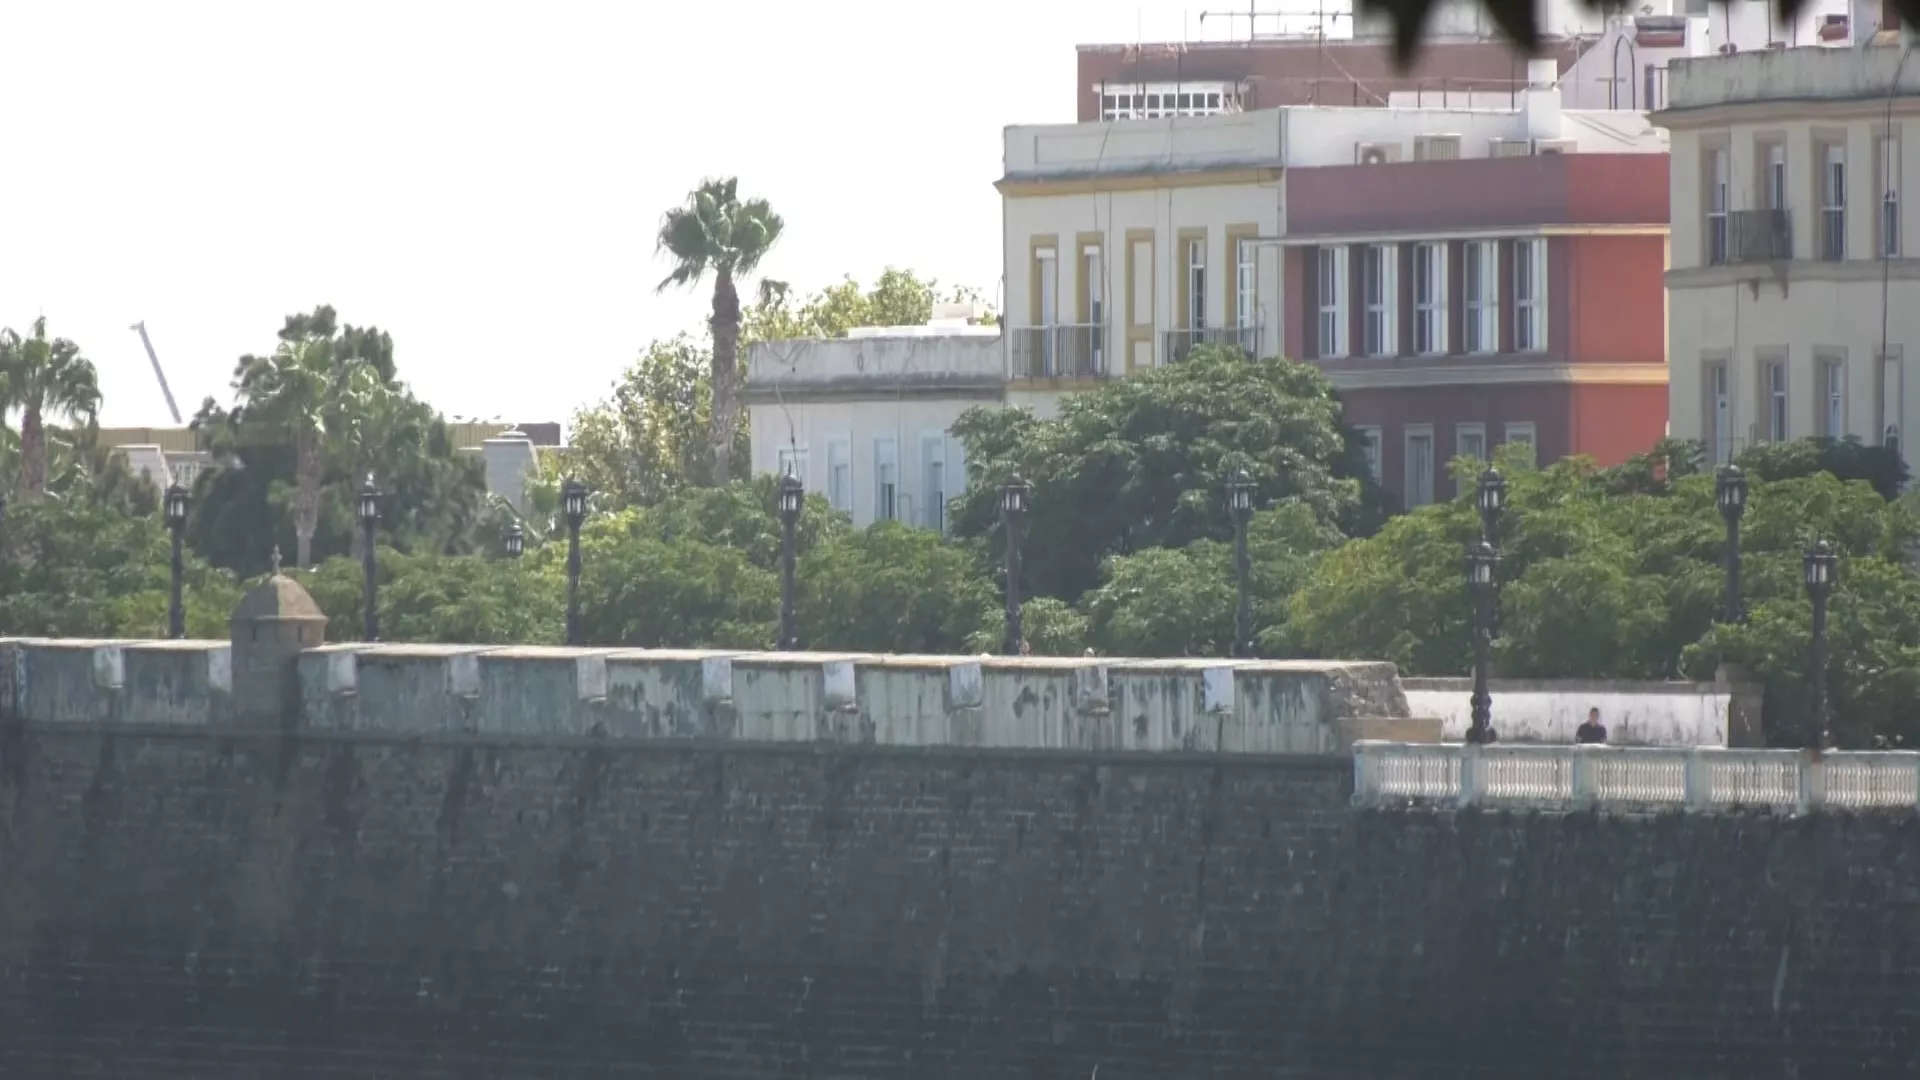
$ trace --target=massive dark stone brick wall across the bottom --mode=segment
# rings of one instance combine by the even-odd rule
[[[1348,769],[0,728],[0,1074],[1920,1074],[1910,819]]]

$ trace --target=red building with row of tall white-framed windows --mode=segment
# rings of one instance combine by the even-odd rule
[[[1667,156],[1286,169],[1286,354],[1321,365],[1404,503],[1530,442],[1603,465],[1667,430]]]

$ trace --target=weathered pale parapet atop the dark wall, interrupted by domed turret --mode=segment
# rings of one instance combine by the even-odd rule
[[[313,732],[1342,753],[1425,730],[1388,663],[340,644],[292,671],[282,726]],[[15,638],[0,675],[27,721],[232,715],[223,642]]]

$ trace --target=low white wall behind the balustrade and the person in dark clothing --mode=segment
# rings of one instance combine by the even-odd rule
[[[1407,711],[1440,717],[1448,742],[1467,736],[1473,680],[1402,678]],[[1588,709],[1599,709],[1613,746],[1726,746],[1726,690],[1707,682],[1494,680],[1500,742],[1571,744]]]

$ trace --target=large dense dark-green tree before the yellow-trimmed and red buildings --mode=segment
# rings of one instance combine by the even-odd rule
[[[1108,557],[1225,540],[1227,477],[1246,469],[1258,503],[1300,502],[1342,532],[1379,515],[1365,461],[1317,369],[1196,348],[1185,361],[1068,398],[1060,415],[972,409],[954,425],[968,490],[954,532],[1002,548],[1000,484],[1033,484],[1027,592],[1071,600]]]

